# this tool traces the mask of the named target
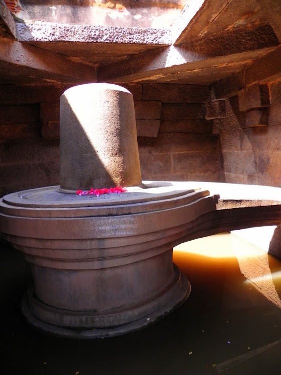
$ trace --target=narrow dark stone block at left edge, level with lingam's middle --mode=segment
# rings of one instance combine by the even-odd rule
[[[40,123],[0,125],[0,139],[40,138]]]

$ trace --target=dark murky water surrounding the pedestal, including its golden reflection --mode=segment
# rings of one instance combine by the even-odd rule
[[[0,373],[279,375],[281,262],[233,234],[182,244],[174,262],[192,287],[179,309],[138,332],[80,341],[25,322],[30,268],[1,243]]]

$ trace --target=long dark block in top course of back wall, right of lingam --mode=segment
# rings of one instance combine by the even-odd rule
[[[144,100],[161,100],[163,103],[205,103],[210,100],[210,88],[203,85],[171,83],[143,84]]]

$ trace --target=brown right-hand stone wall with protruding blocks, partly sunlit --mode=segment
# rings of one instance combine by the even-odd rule
[[[225,181],[281,186],[280,76],[245,78],[239,73],[216,82],[206,103],[206,118],[220,136]]]

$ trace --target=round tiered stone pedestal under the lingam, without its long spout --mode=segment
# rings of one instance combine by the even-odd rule
[[[32,264],[22,305],[30,323],[68,337],[114,336],[186,300],[190,285],[172,248],[215,202],[188,183],[161,185],[100,197],[53,186],[3,198],[4,237]]]

